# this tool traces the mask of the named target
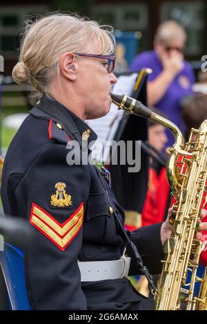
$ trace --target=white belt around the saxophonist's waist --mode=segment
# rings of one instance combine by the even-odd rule
[[[131,258],[123,255],[115,261],[78,262],[81,281],[120,279],[128,276],[130,260]]]

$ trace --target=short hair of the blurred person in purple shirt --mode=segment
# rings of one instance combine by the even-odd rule
[[[168,20],[161,23],[157,28],[154,42],[161,43],[174,39],[183,39],[186,41],[186,31],[184,28],[174,20]]]

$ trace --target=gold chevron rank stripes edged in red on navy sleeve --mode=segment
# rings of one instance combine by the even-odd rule
[[[39,205],[32,203],[30,224],[55,243],[61,251],[64,251],[83,224],[83,203],[62,224]]]

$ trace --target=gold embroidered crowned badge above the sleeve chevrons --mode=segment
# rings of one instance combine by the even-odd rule
[[[72,205],[70,194],[66,194],[66,183],[58,182],[55,185],[56,193],[50,197],[50,204],[55,207],[68,207]]]

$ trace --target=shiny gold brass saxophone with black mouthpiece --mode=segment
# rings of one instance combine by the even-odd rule
[[[168,149],[166,172],[171,194],[177,201],[170,216],[172,235],[164,244],[166,259],[162,261],[161,279],[155,292],[155,309],[207,310],[207,270],[203,278],[197,276],[203,244],[195,239],[200,210],[207,202],[207,120],[201,123],[199,130],[191,130],[184,144],[179,128],[168,119],[130,97],[115,94],[111,97],[119,109],[153,119],[171,130],[175,137],[175,144]],[[200,291],[195,297],[197,283]]]

